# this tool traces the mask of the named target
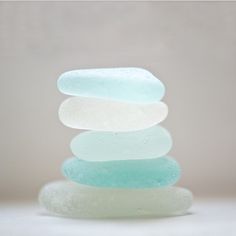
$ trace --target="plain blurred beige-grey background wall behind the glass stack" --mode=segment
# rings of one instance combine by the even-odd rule
[[[236,3],[1,2],[0,62],[2,199],[63,178],[77,131],[57,118],[60,73],[115,66],[165,83],[179,185],[236,194]]]

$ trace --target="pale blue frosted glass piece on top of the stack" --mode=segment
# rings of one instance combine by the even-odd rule
[[[68,71],[59,77],[57,85],[60,92],[71,96],[127,102],[156,102],[165,94],[165,86],[159,79],[135,67]]]

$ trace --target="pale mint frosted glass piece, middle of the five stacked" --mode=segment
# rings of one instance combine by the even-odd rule
[[[71,141],[71,151],[87,161],[157,158],[171,149],[170,133],[159,125],[133,132],[86,131]]]

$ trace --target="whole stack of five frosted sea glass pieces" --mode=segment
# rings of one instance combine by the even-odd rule
[[[171,216],[192,203],[180,178],[169,132],[158,125],[168,113],[160,100],[164,85],[140,68],[87,69],[62,74],[65,100],[59,118],[70,128],[89,130],[74,137],[74,157],[65,161],[69,181],[40,192],[50,212],[81,218]]]

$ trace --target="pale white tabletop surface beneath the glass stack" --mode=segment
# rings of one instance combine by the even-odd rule
[[[37,203],[1,203],[1,236],[236,235],[236,199],[194,201],[189,213],[161,219],[83,220],[50,216]]]

